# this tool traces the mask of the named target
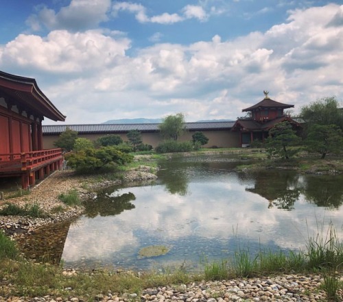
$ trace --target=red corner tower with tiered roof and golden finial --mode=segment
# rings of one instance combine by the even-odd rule
[[[248,147],[254,140],[263,142],[268,137],[269,130],[276,123],[289,121],[294,128],[300,129],[299,123],[286,115],[283,110],[293,108],[294,105],[279,103],[268,97],[268,91],[264,92],[264,99],[249,108],[242,110],[248,112],[249,117],[238,118],[232,131],[239,131],[241,147]]]

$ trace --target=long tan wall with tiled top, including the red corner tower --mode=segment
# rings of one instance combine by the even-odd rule
[[[283,110],[292,108],[294,105],[287,105],[273,101],[265,92],[265,98],[256,105],[246,108],[243,112],[250,112],[250,118],[239,118],[235,121],[226,122],[196,122],[186,123],[186,133],[180,141],[191,140],[191,136],[196,131],[201,131],[209,138],[209,142],[204,147],[246,147],[253,140],[264,140],[268,136],[268,131],[276,123],[289,121],[294,127],[299,127],[296,121],[286,116]],[[54,142],[67,127],[78,131],[80,138],[97,140],[107,134],[117,134],[123,140],[128,140],[126,134],[130,130],[141,131],[144,144],[151,144],[156,147],[163,139],[159,134],[158,123],[150,124],[99,124],[99,125],[47,125],[43,126],[44,147],[54,147]]]

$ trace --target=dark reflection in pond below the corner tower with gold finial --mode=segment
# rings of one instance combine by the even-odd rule
[[[255,188],[247,188],[246,190],[268,199],[268,208],[276,206],[278,209],[290,211],[294,210],[294,203],[300,195],[297,182],[296,173],[263,171],[256,175]]]

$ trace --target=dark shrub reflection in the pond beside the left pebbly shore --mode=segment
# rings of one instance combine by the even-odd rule
[[[133,193],[128,192],[121,195],[114,195],[113,189],[111,192],[107,191],[100,192],[96,199],[91,199],[84,203],[87,217],[94,218],[97,215],[117,215],[124,210],[134,209],[134,205],[130,203],[130,201],[136,199]]]

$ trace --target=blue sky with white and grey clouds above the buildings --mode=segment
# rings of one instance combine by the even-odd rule
[[[343,101],[343,5],[321,0],[1,0],[0,70],[64,124],[229,119],[264,97]],[[43,125],[56,125],[47,118]]]

